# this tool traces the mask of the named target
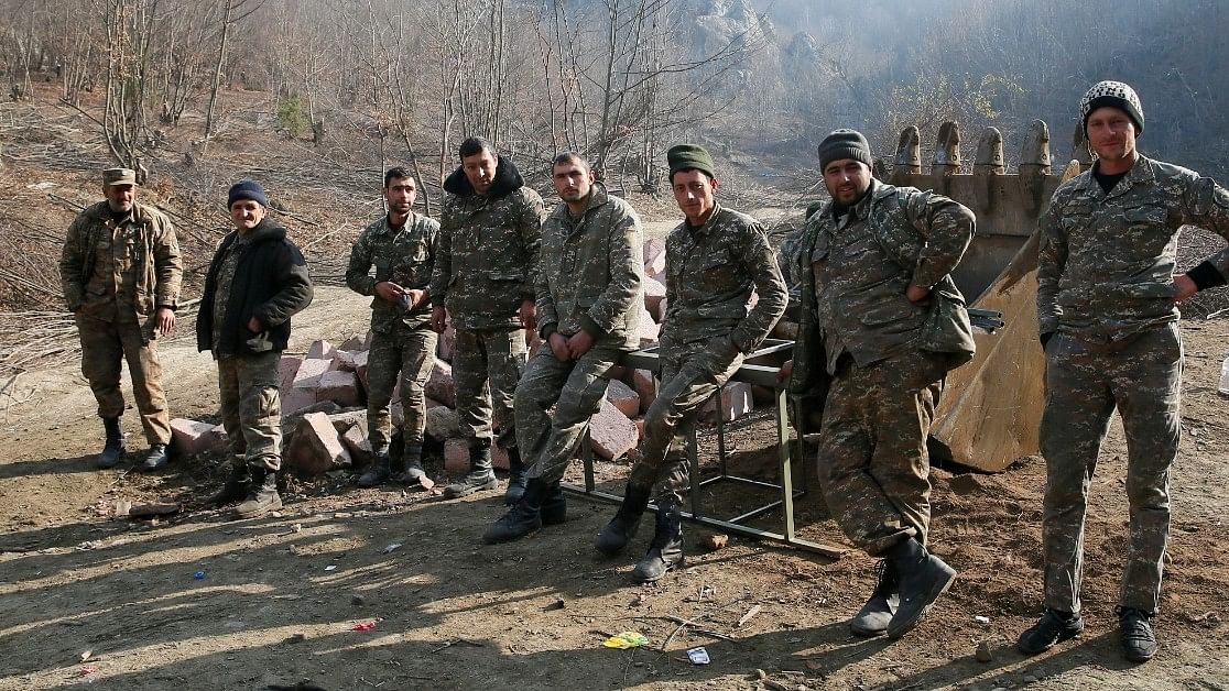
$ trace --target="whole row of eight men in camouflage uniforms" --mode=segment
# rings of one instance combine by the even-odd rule
[[[1083,631],[1080,578],[1086,496],[1111,412],[1127,433],[1129,536],[1120,596],[1125,655],[1156,652],[1169,533],[1169,469],[1177,453],[1182,349],[1176,303],[1225,285],[1229,249],[1175,275],[1182,225],[1229,238],[1229,193],[1212,179],[1136,149],[1143,108],[1121,82],[1095,85],[1079,104],[1096,162],[1063,184],[1041,220],[1039,338],[1046,352],[1041,422],[1047,485],[1042,520],[1045,611],[1018,648],[1042,652]],[[485,140],[467,139],[444,182],[436,222],[415,214],[418,180],[387,171],[387,214],[350,254],[347,284],[371,296],[367,420],[374,452],[363,486],[423,476],[424,384],[438,334],[455,329],[452,372],[468,473],[449,498],[498,488],[492,444],[509,458],[508,512],[488,544],[567,518],[560,479],[597,411],[612,369],[639,345],[642,227],[635,211],[595,179],[576,153],[554,158],[559,204],[542,198]],[[975,216],[945,196],[871,174],[854,130],[819,145],[831,200],[814,210],[789,258],[801,279],[799,338],[782,380],[804,409],[822,411],[817,461],[839,528],[880,560],[876,585],[850,620],[860,636],[903,636],[956,572],[928,550],[927,436],[946,373],[973,355],[964,297],[951,280]],[[683,215],[666,239],[667,308],[660,392],[623,501],[596,539],[605,555],[634,539],[653,501],[655,528],[633,579],[660,579],[683,561],[685,439],[702,405],[780,318],[785,282],[758,221],[718,201],[713,158],[701,146],[667,152]],[[132,372],[149,455],[167,463],[166,396],[156,339],[175,326],[182,264],[175,231],[135,201],[132,171],[103,173],[106,200],[69,230],[60,269],[82,344],[82,372],[98,400],[103,468],[124,453],[120,360]],[[234,460],[216,504],[251,518],[280,508],[278,360],[290,318],[312,299],[302,254],[267,215],[259,184],[229,193],[234,230],[205,281],[197,339],[218,363],[221,417]],[[374,268],[374,271],[372,271]],[[524,331],[542,347],[528,356]],[[404,409],[393,448],[390,404]],[[799,416],[801,425],[809,417]]]

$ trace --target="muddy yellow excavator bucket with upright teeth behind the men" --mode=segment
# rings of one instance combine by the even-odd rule
[[[971,307],[1003,314],[1002,328],[977,339],[977,355],[948,374],[932,426],[932,448],[977,470],[998,473],[1039,453],[1046,361],[1037,338],[1037,218],[1059,184],[1090,161],[1084,150],[1062,172],[1050,163],[1050,131],[1036,120],[1024,141],[1019,173],[1007,173],[1003,136],[982,135],[971,174],[962,174],[955,123],[939,130],[934,163],[922,173],[917,130],[901,134],[892,184],[933,189],[968,206],[977,232],[954,272]],[[972,298],[976,296],[976,298]]]

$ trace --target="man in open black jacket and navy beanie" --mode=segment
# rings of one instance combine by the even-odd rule
[[[269,200],[256,182],[227,195],[235,231],[222,238],[205,279],[197,317],[197,347],[218,361],[222,426],[234,464],[226,486],[210,497],[222,506],[246,500],[236,518],[281,508],[281,399],[278,361],[290,339],[290,317],[312,299],[302,253],[267,216]]]

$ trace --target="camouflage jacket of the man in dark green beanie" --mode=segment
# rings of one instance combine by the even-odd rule
[[[746,353],[768,336],[788,296],[760,221],[718,204],[699,228],[683,221],[670,231],[666,298],[662,349],[729,338]]]

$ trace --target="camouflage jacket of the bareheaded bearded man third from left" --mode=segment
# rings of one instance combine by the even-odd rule
[[[435,263],[435,238],[440,225],[434,218],[410,212],[406,225],[393,231],[388,216],[371,223],[354,241],[350,264],[345,269],[345,285],[359,295],[372,296],[371,330],[386,334],[401,322],[410,329],[431,319],[429,301],[417,309],[402,312],[376,295],[376,284],[392,281],[403,288],[426,290]],[[375,276],[371,266],[375,265]]]

